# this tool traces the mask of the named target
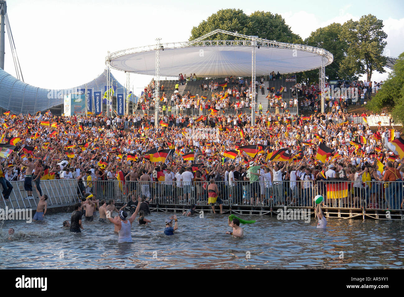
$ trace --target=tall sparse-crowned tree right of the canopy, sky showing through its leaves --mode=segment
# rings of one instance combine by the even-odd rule
[[[350,19],[342,26],[340,42],[348,45],[347,54],[341,61],[340,70],[353,74],[365,74],[370,82],[372,72],[385,72],[386,59],[382,56],[387,44],[383,21],[374,15],[364,15],[359,21]]]

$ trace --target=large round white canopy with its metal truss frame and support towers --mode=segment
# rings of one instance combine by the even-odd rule
[[[239,40],[206,40],[219,33],[235,36]],[[191,41],[161,43],[160,40],[161,38],[156,39],[156,44],[108,53],[105,63],[107,67],[116,70],[154,75],[155,100],[160,95],[160,75],[195,73],[198,77],[251,77],[252,119],[255,118],[256,109],[256,76],[267,76],[272,71],[292,74],[319,69],[322,111],[324,110],[325,67],[332,63],[334,57],[323,48],[266,40],[221,29]],[[155,115],[158,124],[157,109]]]

